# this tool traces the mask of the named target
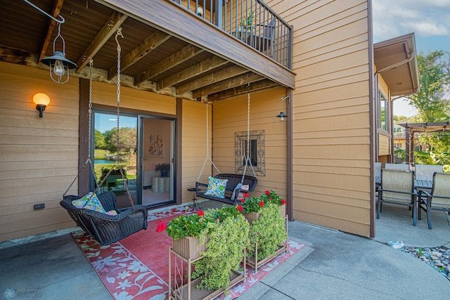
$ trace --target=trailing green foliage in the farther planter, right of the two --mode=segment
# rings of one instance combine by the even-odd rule
[[[285,219],[278,205],[266,204],[260,211],[261,216],[250,226],[250,247],[248,254],[255,256],[255,244],[258,243],[258,261],[275,254],[287,237]]]

